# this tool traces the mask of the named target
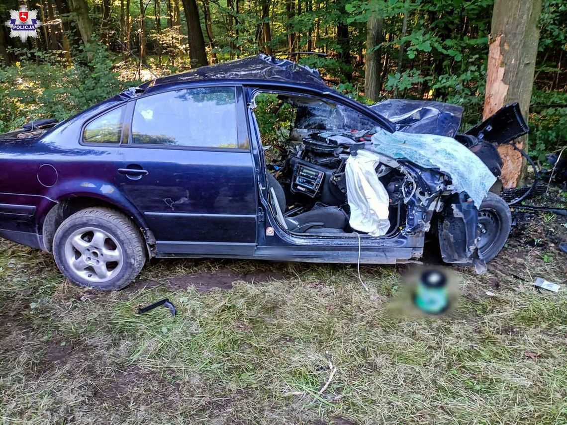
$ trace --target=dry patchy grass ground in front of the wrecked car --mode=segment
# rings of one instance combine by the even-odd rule
[[[455,309],[420,318],[388,308],[407,267],[361,267],[366,292],[356,266],[163,260],[107,294],[0,241],[0,419],[565,424],[567,292],[531,283],[565,283],[567,256],[535,245],[459,269]],[[166,297],[176,317],[137,314]]]

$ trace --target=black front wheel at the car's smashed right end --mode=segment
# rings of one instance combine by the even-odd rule
[[[489,192],[479,208],[479,243],[477,248],[484,261],[489,262],[506,244],[512,215],[506,201]]]

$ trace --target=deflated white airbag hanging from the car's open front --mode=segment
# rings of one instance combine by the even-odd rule
[[[380,156],[359,150],[346,160],[346,197],[350,207],[349,224],[354,230],[371,236],[386,235],[388,220],[388,192],[376,176]]]

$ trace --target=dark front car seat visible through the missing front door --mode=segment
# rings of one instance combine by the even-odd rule
[[[284,188],[276,177],[266,173],[270,201],[278,222],[294,233],[342,233],[348,222],[348,216],[339,207],[315,206],[306,213],[298,214],[291,218],[284,217],[286,199]]]

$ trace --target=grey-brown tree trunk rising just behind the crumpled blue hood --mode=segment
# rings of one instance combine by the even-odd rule
[[[378,16],[370,16],[366,23],[364,95],[374,101],[378,100],[382,89],[382,48],[375,48],[384,40],[383,26],[384,18]]]

